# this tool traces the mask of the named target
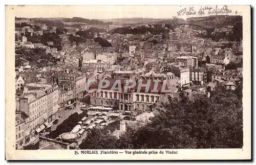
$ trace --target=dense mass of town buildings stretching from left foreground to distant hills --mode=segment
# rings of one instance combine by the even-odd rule
[[[42,35],[49,30],[45,25],[38,26],[40,31],[24,27],[15,29],[15,34],[24,35],[26,31],[31,36]],[[95,34],[112,43],[110,48],[102,48],[93,40],[71,45],[66,34],[61,34],[61,51],[32,43],[23,36],[22,41],[15,42],[16,49],[46,49],[58,61],[43,68],[24,61],[15,69],[16,148],[29,144],[51,127],[61,107],[85,97],[90,96],[91,105],[133,113],[151,111],[169,97],[179,98],[182,92],[193,98],[209,97],[210,91],[235,89],[243,69],[226,69],[225,65],[241,59],[236,54],[241,51],[241,43],[202,39],[197,37],[202,32],[185,28],[188,26],[158,35]],[[50,30],[54,32],[56,28]],[[221,49],[230,44],[234,46]],[[110,85],[98,90],[102,79]],[[126,91],[125,81],[130,79],[137,83]],[[96,82],[88,86],[87,92],[89,80]],[[116,81],[121,82],[120,90],[112,88]]]

